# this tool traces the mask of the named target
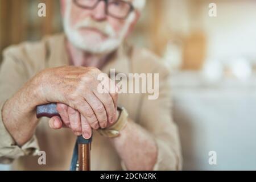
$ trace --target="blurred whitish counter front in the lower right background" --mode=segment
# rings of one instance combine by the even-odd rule
[[[171,80],[174,121],[179,126],[184,170],[256,169],[256,77],[205,86],[200,73]],[[217,164],[208,163],[209,151]]]

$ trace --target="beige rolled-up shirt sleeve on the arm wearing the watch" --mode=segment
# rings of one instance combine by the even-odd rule
[[[152,134],[158,147],[154,170],[181,170],[179,132],[171,109],[170,74],[160,71],[158,97],[155,100],[148,100],[148,95],[143,98],[139,117],[139,123]]]

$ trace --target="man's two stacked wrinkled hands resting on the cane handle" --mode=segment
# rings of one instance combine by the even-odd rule
[[[44,99],[58,103],[60,117],[49,120],[52,129],[69,127],[75,135],[88,139],[92,129],[113,125],[117,119],[118,88],[108,76],[104,84],[98,81],[100,73],[97,68],[85,67],[51,68],[40,73],[44,80],[41,88]],[[104,86],[106,92],[98,92],[99,84],[109,85]]]

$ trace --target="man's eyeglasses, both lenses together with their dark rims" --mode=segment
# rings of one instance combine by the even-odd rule
[[[126,19],[134,11],[134,6],[127,1],[122,0],[73,0],[73,2],[82,9],[93,10],[100,1],[105,1],[105,13],[113,18]]]

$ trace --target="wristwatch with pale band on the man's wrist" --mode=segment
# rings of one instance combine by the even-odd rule
[[[119,111],[119,117],[117,119],[117,122],[114,123],[114,125],[106,128],[106,129],[98,129],[98,133],[100,133],[104,137],[108,138],[114,138],[118,137],[119,132],[126,126],[128,121],[128,113],[125,109],[125,107],[117,107],[117,110]]]

